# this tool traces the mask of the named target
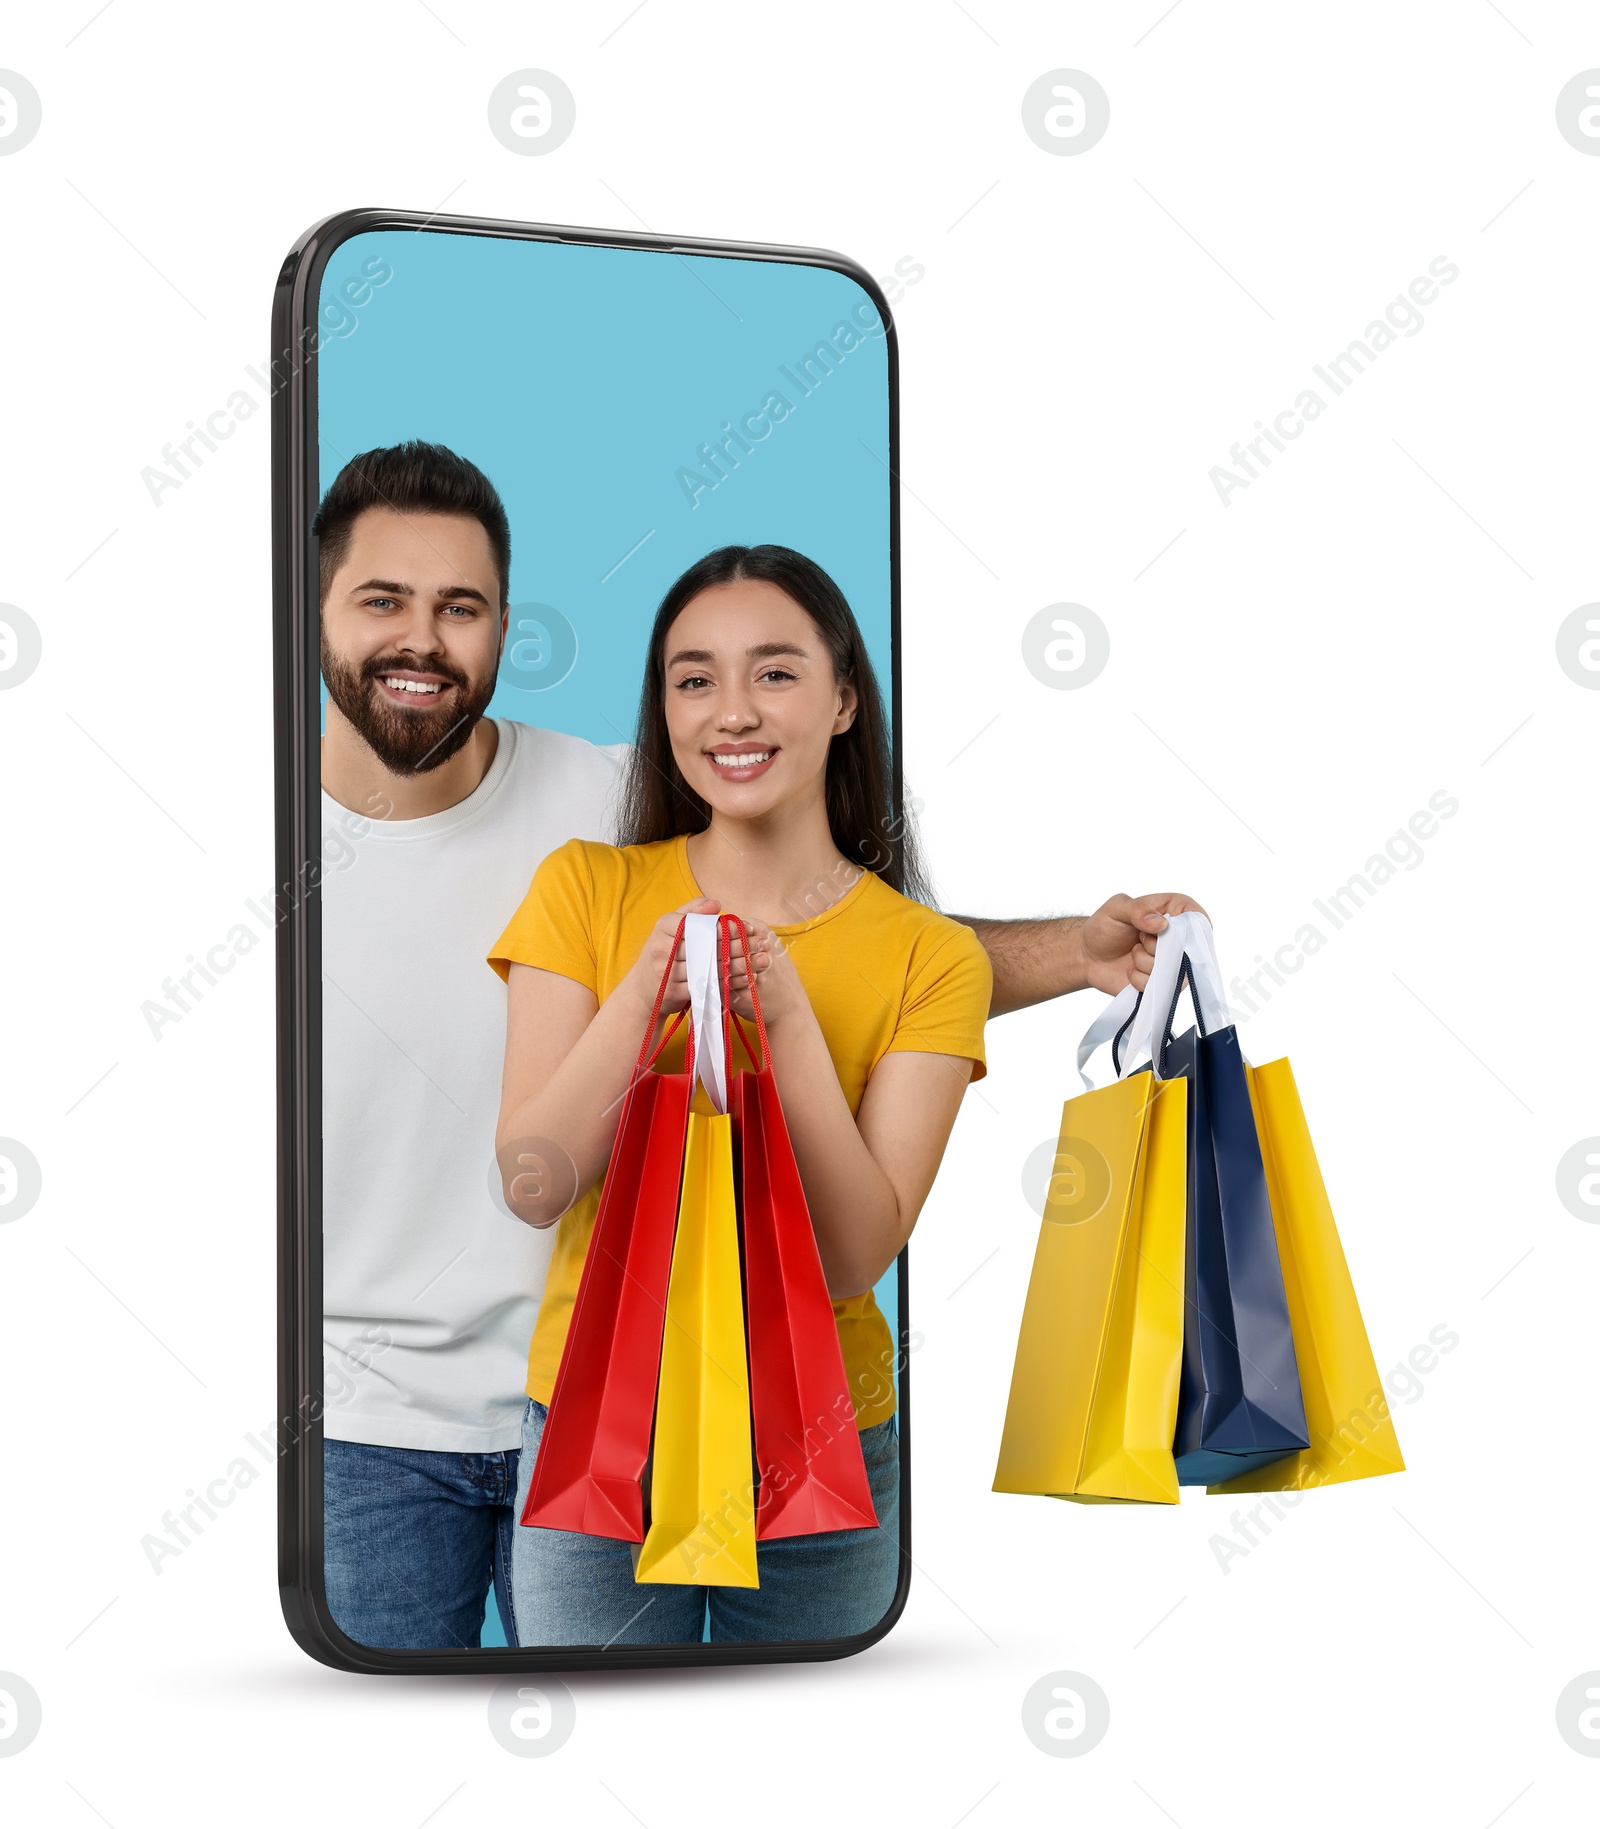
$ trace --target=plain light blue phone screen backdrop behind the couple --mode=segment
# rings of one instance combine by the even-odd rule
[[[631,739],[656,604],[728,543],[775,541],[823,565],[889,691],[887,342],[863,327],[878,313],[854,280],[384,230],[335,249],[320,296],[320,488],[360,452],[432,439],[507,505],[512,627],[492,715]],[[753,448],[733,446],[737,468],[720,454],[717,481],[699,446],[772,393],[786,417],[757,421],[764,437],[744,428]],[[678,468],[715,487],[691,505]],[[876,1293],[894,1332],[892,1269]],[[483,1642],[505,1642],[494,1604]]]

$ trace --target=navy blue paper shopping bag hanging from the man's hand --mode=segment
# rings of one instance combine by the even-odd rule
[[[1172,1039],[1183,984],[1196,1026]],[[1168,918],[1128,1033],[1163,1079],[1189,1083],[1179,1485],[1212,1485],[1306,1449],[1306,1408],[1262,1145],[1238,1032],[1203,914]]]

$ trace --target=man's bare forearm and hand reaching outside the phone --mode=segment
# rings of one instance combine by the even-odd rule
[[[1205,909],[1192,896],[1112,896],[1093,914],[1062,914],[1055,920],[984,920],[953,914],[989,955],[995,991],[989,1015],[1042,1004],[1050,997],[1083,991],[1115,995],[1125,986],[1145,989],[1156,962],[1156,935],[1168,914]]]

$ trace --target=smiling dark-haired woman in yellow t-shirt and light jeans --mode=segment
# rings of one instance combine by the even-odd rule
[[[973,931],[911,898],[920,871],[891,819],[878,684],[848,604],[810,560],[724,547],[667,591],[622,830],[622,847],[574,840],[547,858],[490,955],[510,991],[497,1141],[539,1138],[576,1169],[507,1178],[525,1220],[560,1220],[528,1353],[517,1514],[678,914],[726,909],[750,929],[878,1529],[764,1542],[759,1588],[706,1589],[636,1586],[627,1544],[519,1525],[517,1635],[675,1644],[702,1637],[708,1606],[713,1639],[869,1631],[900,1566],[894,1342],[872,1286],[911,1236],[967,1081],[984,1072],[991,980]],[[733,991],[748,1013],[742,964]],[[680,960],[666,1008],[686,1000]]]

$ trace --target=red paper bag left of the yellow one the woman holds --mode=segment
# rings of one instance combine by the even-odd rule
[[[523,1524],[631,1544],[644,1538],[642,1480],[695,1081],[693,1032],[682,1074],[653,1068],[678,1022],[651,1054],[671,969],[669,960],[624,1097],[521,1514]]]

